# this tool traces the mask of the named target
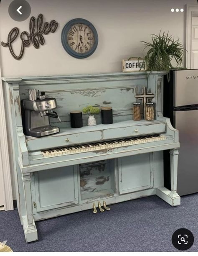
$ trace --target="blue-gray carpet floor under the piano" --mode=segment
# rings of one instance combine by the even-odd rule
[[[111,205],[110,211],[91,210],[36,222],[38,241],[25,243],[18,211],[0,212],[0,241],[13,251],[178,251],[171,237],[188,228],[198,251],[198,194],[171,207],[157,196]]]

